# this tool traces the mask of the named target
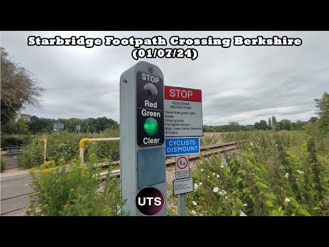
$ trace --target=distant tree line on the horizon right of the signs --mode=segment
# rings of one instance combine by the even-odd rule
[[[317,117],[311,117],[308,121],[317,121]],[[264,119],[256,122],[254,125],[243,126],[236,121],[231,121],[227,125],[223,126],[204,126],[204,132],[236,132],[241,130],[304,130],[308,121],[297,120],[292,122],[289,119],[282,119],[281,121],[276,121],[276,117],[269,117],[268,121]]]

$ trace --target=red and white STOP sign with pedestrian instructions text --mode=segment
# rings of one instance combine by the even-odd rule
[[[164,136],[202,137],[202,91],[164,86]]]

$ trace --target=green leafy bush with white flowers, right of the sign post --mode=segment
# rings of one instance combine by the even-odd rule
[[[319,140],[275,130],[232,137],[243,139],[236,151],[197,163],[188,215],[328,215],[329,155],[315,152]]]

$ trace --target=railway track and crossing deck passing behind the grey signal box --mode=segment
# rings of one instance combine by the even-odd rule
[[[196,160],[200,158],[200,156],[209,156],[211,154],[217,154],[219,152],[227,152],[230,150],[235,150],[236,143],[220,143],[215,145],[206,145],[201,148],[200,154],[192,154],[189,156],[190,161]],[[110,167],[110,165],[119,165],[120,161],[114,161],[112,163],[99,163],[98,165],[106,169]],[[169,156],[166,158],[166,165],[175,165],[175,156]],[[111,176],[120,176],[120,170],[114,170],[111,172]],[[108,172],[102,172],[101,174],[97,174],[100,178],[106,178],[106,174]],[[1,181],[1,215],[5,215],[8,213],[12,213],[14,211],[18,211],[28,207],[29,203],[29,195],[34,194],[33,189],[28,185],[32,181],[31,177],[25,176],[23,178],[13,178],[11,180],[3,180]],[[16,187],[18,191],[12,191],[10,193],[6,193],[3,191],[3,188],[7,187]],[[3,193],[5,192],[5,193]],[[5,196],[3,196],[5,194]],[[10,208],[11,204],[14,204],[12,209]]]

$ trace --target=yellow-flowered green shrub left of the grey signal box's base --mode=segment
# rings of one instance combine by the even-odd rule
[[[78,160],[68,166],[61,160],[58,166],[46,161],[39,168],[29,169],[36,194],[27,215],[119,215],[125,203],[119,179],[109,173],[100,182],[95,174],[101,170],[94,167],[95,163],[95,156],[91,156],[83,167]]]

